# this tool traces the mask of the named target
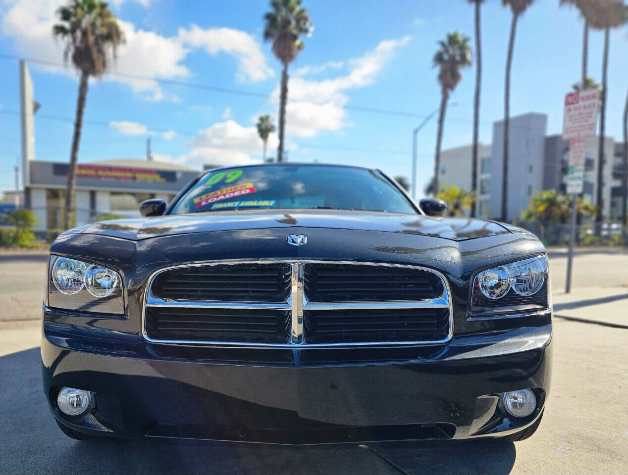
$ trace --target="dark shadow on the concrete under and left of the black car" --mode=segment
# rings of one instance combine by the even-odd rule
[[[77,441],[58,429],[41,388],[40,349],[0,357],[0,473],[508,474],[512,442],[411,447],[210,446],[149,440]]]

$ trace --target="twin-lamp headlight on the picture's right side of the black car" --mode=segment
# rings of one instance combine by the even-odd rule
[[[482,270],[473,282],[471,314],[546,309],[548,285],[548,265],[544,255]]]

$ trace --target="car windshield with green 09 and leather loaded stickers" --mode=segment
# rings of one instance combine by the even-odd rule
[[[320,208],[416,214],[381,173],[343,166],[260,165],[203,176],[171,213],[251,208]]]

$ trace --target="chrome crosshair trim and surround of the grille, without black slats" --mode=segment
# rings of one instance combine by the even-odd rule
[[[229,301],[188,301],[178,299],[160,299],[151,294],[151,287],[157,275],[172,269],[187,267],[208,267],[212,265],[242,265],[242,264],[291,264],[291,291],[286,302],[229,302]],[[437,299],[425,299],[420,301],[394,301],[394,302],[308,302],[303,294],[303,269],[307,264],[345,264],[345,265],[371,265],[381,267],[404,267],[408,269],[424,270],[436,275],[443,284],[443,295]],[[192,346],[218,346],[221,348],[276,348],[276,349],[308,349],[308,348],[351,348],[362,346],[414,346],[443,344],[453,337],[453,305],[452,292],[449,283],[438,270],[422,267],[420,265],[387,264],[382,262],[354,262],[337,260],[220,260],[213,262],[198,262],[195,264],[173,265],[158,269],[148,278],[148,285],[144,291],[142,304],[142,335],[146,341],[156,344],[177,344]],[[204,341],[185,339],[156,339],[151,338],[146,331],[147,307],[191,307],[191,308],[224,308],[224,309],[291,309],[291,337],[286,343],[253,343],[246,341]],[[426,341],[360,341],[343,343],[304,343],[303,335],[303,311],[304,310],[356,310],[356,309],[411,309],[411,308],[448,308],[449,309],[449,333],[446,338]]]

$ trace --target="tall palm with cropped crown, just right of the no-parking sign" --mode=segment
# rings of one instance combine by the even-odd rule
[[[602,97],[600,99],[600,137],[597,151],[597,183],[595,185],[595,213],[596,233],[601,230],[604,220],[602,203],[602,174],[604,173],[604,132],[606,120],[606,99],[608,97],[607,73],[609,70],[609,36],[610,28],[617,28],[625,23],[627,9],[623,0],[578,0],[579,8],[587,18],[592,28],[604,30],[604,53],[602,53]],[[624,192],[625,193],[625,192]],[[625,200],[624,200],[625,201]]]

